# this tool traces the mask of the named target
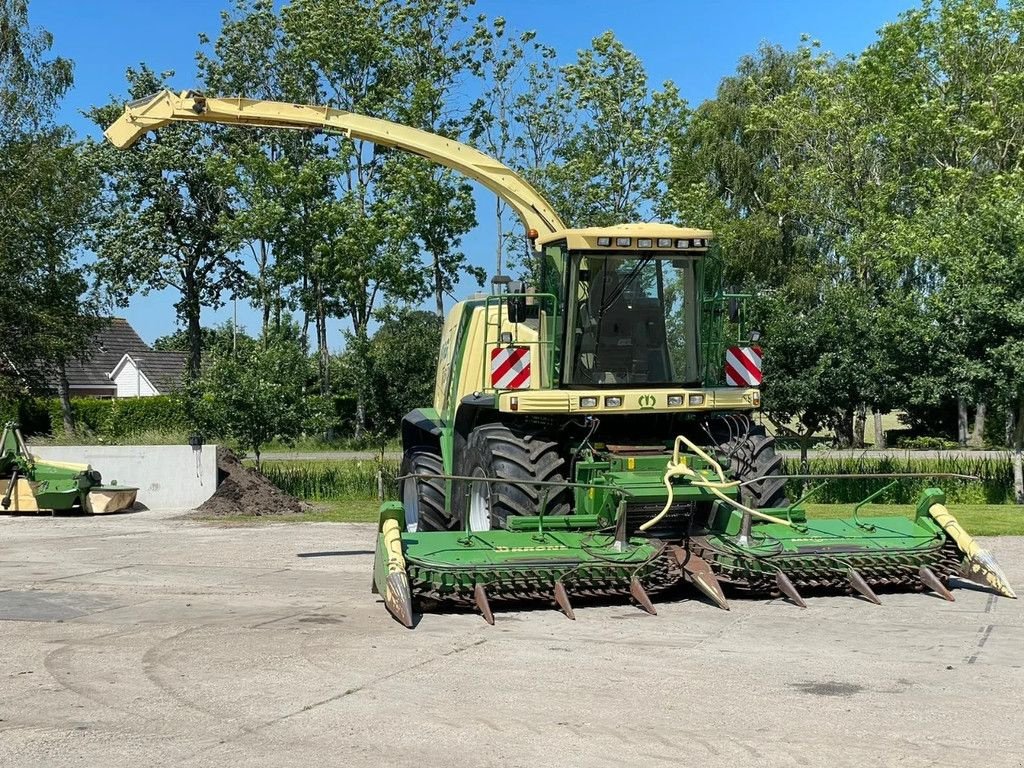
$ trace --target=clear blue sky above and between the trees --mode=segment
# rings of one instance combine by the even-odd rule
[[[80,135],[99,135],[81,111],[122,96],[124,73],[144,61],[157,72],[173,70],[176,87],[196,82],[198,35],[216,37],[220,11],[230,0],[30,0],[34,26],[49,30],[54,52],[75,61],[75,87],[60,113],[62,122]],[[696,105],[715,95],[721,78],[762,41],[795,46],[801,34],[820,40],[838,54],[856,53],[877,30],[915,6],[912,0],[478,0],[476,10],[503,15],[516,30],[537,30],[562,62],[606,30],[644,61],[652,84],[673,80]],[[245,94],[240,94],[245,95]],[[483,266],[493,265],[494,209],[486,190],[477,194],[480,224],[464,241],[464,250]],[[691,222],[699,224],[699,222]],[[468,293],[464,284],[460,291]],[[119,313],[128,317],[143,339],[153,342],[175,328],[169,292],[137,296]],[[239,322],[257,329],[256,312],[239,302]],[[204,325],[229,319],[231,306],[207,310]],[[332,325],[331,344],[341,344],[343,322]]]

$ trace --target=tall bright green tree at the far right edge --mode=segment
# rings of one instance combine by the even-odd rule
[[[1021,370],[1005,357],[1022,331],[1022,27],[1019,0],[923,2],[882,30],[859,69],[880,133],[902,162],[899,233],[909,237],[895,247],[914,252],[929,276],[943,387],[1016,415],[1024,500]]]

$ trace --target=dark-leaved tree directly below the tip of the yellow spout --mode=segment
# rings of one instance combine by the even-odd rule
[[[146,69],[128,71],[129,98],[164,87]],[[106,127],[122,113],[116,101],[89,117]],[[136,293],[173,288],[178,321],[188,335],[188,376],[198,375],[203,353],[202,312],[241,293],[247,280],[238,241],[225,221],[233,211],[218,177],[210,128],[175,124],[125,152],[109,143],[93,147],[104,178],[104,207],[94,230],[96,272],[126,303]]]

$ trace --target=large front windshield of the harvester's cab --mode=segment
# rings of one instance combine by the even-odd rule
[[[587,254],[573,259],[568,383],[698,380],[694,259]]]

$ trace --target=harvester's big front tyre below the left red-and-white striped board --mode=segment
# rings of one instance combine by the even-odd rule
[[[558,443],[540,435],[513,432],[504,424],[484,424],[474,429],[466,441],[458,474],[470,477],[510,480],[565,481],[565,460]],[[457,485],[453,506],[460,521],[469,521],[471,530],[506,527],[512,515],[536,515],[547,499],[546,515],[568,514],[572,494],[569,488],[502,482],[469,482]]]

